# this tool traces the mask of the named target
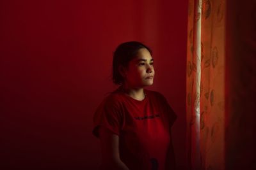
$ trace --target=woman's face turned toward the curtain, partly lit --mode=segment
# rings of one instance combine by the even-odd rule
[[[141,48],[137,56],[125,68],[125,85],[136,89],[152,85],[154,74],[152,56],[146,48]]]

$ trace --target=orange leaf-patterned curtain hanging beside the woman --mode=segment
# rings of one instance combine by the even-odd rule
[[[187,153],[189,169],[225,169],[225,1],[189,0]]]

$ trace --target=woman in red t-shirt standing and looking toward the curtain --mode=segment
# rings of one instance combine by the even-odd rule
[[[113,82],[120,85],[95,112],[93,134],[100,138],[100,169],[175,168],[171,127],[176,115],[166,99],[144,89],[154,80],[152,51],[137,41],[113,55]]]

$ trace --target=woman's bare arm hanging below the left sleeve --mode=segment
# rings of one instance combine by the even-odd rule
[[[129,170],[119,155],[119,136],[104,127],[99,127],[99,138],[102,152],[102,167],[105,170]]]

